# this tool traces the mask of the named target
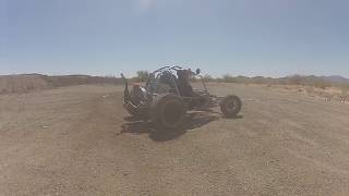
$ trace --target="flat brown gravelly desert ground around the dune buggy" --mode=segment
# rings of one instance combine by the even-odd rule
[[[0,95],[0,195],[349,195],[349,106],[267,86],[210,84],[236,119],[190,113],[155,132],[122,86]]]

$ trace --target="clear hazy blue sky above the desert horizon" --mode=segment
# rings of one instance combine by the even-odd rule
[[[348,0],[0,0],[0,74],[349,77]]]

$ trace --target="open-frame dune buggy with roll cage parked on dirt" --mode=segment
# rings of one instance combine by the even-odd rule
[[[210,95],[200,73],[200,69],[192,72],[181,66],[164,66],[149,73],[144,86],[135,84],[132,89],[121,74],[124,81],[123,106],[131,115],[151,120],[158,130],[179,128],[190,110],[208,111],[220,107],[225,117],[237,115],[242,106],[240,98]],[[192,77],[201,79],[202,90],[193,89]]]

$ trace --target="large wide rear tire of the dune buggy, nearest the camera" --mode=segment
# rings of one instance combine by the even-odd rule
[[[153,101],[151,120],[158,131],[178,130],[183,124],[186,107],[176,94],[158,95]]]

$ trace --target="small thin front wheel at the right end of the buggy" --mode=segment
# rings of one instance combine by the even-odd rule
[[[242,102],[238,96],[228,95],[221,100],[219,106],[225,117],[233,118],[240,112]]]

